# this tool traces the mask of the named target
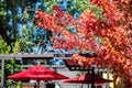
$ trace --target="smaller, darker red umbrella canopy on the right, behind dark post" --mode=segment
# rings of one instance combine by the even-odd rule
[[[105,79],[102,77],[99,77],[95,75],[95,84],[105,84],[105,82],[111,82],[112,80]],[[74,82],[74,84],[91,84],[92,82],[92,75],[91,74],[85,74],[80,75],[70,79],[66,79],[64,82]]]

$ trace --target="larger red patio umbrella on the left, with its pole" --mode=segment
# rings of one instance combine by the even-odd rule
[[[26,70],[16,73],[14,75],[8,76],[10,79],[14,80],[36,80],[37,87],[40,86],[41,80],[58,80],[58,79],[67,79],[68,77],[61,75],[54,70],[51,70],[42,65],[36,65],[28,68]]]

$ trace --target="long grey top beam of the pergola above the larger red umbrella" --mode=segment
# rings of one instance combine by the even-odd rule
[[[54,59],[69,59],[73,54],[56,54],[56,53],[18,53],[18,54],[0,54],[0,59],[21,59],[21,58],[54,58]]]

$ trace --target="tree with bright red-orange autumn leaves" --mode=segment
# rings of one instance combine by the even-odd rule
[[[107,67],[130,88],[132,75],[132,1],[90,0],[76,20],[54,6],[53,14],[36,10],[36,24],[53,32],[54,48],[77,48],[79,53],[97,54],[85,57],[79,53],[73,59],[85,66]],[[97,12],[100,10],[100,12]]]

